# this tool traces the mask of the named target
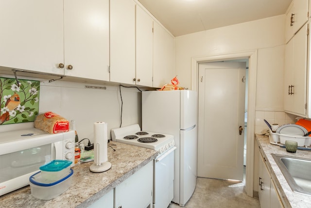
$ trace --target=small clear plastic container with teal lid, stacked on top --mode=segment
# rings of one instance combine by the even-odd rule
[[[53,160],[40,167],[41,176],[50,181],[60,180],[70,172],[71,163],[69,160]]]

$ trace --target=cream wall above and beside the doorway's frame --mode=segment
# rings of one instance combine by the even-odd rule
[[[249,96],[256,97],[256,112],[282,113],[284,44],[284,15],[176,37],[174,74],[191,89],[191,58],[258,50],[257,93]],[[256,124],[263,124],[262,113],[256,115]]]

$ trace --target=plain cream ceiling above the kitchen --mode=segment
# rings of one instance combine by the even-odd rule
[[[138,0],[175,37],[285,14],[292,0]]]

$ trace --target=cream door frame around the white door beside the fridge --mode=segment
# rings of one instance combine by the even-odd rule
[[[249,59],[248,63],[248,99],[247,99],[247,132],[246,132],[246,182],[245,191],[253,197],[254,192],[254,143],[255,143],[255,110],[257,85],[258,50],[242,51],[218,55],[207,55],[191,58],[191,89],[198,90],[199,63],[223,60]],[[249,96],[254,95],[254,96]]]

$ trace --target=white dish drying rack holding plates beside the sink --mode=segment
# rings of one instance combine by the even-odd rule
[[[281,146],[285,148],[285,141],[291,140],[296,141],[298,150],[310,150],[311,151],[311,136],[299,136],[284,133],[275,133],[269,129],[270,135],[269,140],[271,144]]]

